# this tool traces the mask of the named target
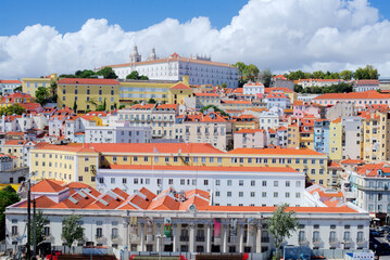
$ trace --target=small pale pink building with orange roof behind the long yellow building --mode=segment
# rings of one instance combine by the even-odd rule
[[[266,140],[264,129],[241,129],[234,133],[235,148],[264,148]]]

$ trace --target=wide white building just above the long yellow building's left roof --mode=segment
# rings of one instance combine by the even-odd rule
[[[87,143],[150,143],[150,127],[86,126],[85,142]]]

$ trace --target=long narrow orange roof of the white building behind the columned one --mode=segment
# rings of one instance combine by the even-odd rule
[[[277,150],[277,148],[274,148]],[[113,170],[297,172],[290,167],[111,165]]]

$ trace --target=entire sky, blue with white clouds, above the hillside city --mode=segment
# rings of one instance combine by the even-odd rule
[[[390,76],[387,0],[2,0],[0,10],[0,79],[126,63],[134,44],[143,57],[154,47],[273,73],[373,64]]]

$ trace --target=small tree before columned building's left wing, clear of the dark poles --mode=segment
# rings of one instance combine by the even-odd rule
[[[80,216],[72,214],[62,219],[62,238],[66,240],[67,247],[72,247],[75,240],[81,240],[84,237],[84,229],[79,224]]]

